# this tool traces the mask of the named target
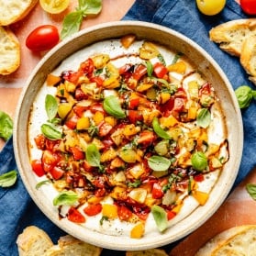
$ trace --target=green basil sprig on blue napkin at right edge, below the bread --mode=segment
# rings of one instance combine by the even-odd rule
[[[250,106],[251,100],[256,99],[256,90],[252,90],[248,85],[241,85],[235,90],[239,102],[239,108]]]

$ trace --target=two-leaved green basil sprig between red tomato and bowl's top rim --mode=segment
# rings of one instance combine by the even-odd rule
[[[76,10],[64,17],[61,39],[65,39],[79,31],[83,17],[97,15],[101,12],[101,9],[102,0],[79,0]]]

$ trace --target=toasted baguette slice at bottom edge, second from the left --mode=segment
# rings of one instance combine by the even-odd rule
[[[99,256],[101,251],[102,248],[66,235],[58,240],[58,245],[52,246],[43,256]]]

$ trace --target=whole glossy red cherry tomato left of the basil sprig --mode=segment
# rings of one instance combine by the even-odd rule
[[[59,31],[52,25],[42,25],[35,28],[26,39],[26,46],[29,50],[43,51],[50,50],[60,40]]]

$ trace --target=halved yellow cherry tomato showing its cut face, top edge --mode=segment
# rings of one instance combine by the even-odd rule
[[[70,0],[39,0],[39,4],[46,12],[59,14],[70,5]]]

